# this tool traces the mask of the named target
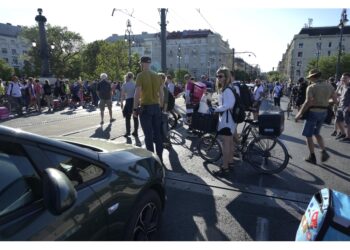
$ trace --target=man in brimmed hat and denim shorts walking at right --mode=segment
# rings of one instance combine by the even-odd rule
[[[317,69],[312,69],[309,72],[307,79],[309,79],[311,83],[306,89],[306,100],[295,116],[295,120],[298,121],[303,115],[306,115],[302,135],[306,137],[306,143],[310,154],[305,158],[305,161],[312,164],[317,163],[313,136],[316,138],[321,148],[321,161],[327,161],[329,158],[320,131],[327,117],[329,99],[333,98],[333,101],[336,101],[334,88],[321,80],[321,75],[321,72]]]

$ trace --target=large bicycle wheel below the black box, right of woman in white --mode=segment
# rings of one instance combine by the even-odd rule
[[[276,174],[287,167],[289,154],[277,137],[259,136],[249,143],[244,159],[260,173]]]

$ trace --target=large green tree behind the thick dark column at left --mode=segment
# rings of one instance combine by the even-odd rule
[[[69,31],[67,27],[51,26],[50,24],[46,26],[46,34],[52,73],[57,77],[77,78],[80,75],[81,68],[79,56],[79,51],[83,46],[81,35]],[[36,43],[36,47],[32,47],[24,59],[31,62],[32,75],[39,75],[41,59],[39,56],[38,26],[23,27],[21,36],[28,42]],[[28,69],[29,67],[26,70]]]

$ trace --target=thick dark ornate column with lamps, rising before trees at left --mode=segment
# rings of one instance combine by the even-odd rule
[[[39,39],[40,39],[40,58],[41,58],[41,72],[40,75],[42,77],[50,77],[50,64],[49,64],[49,51],[48,51],[48,45],[47,45],[47,38],[46,38],[46,30],[45,30],[45,23],[47,21],[46,17],[41,15],[43,12],[42,9],[38,9],[39,15],[35,17],[35,21],[38,22],[39,25]],[[32,44],[34,46],[34,43]],[[36,44],[35,44],[36,45]]]

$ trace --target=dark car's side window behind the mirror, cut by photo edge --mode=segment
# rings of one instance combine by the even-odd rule
[[[15,143],[0,144],[0,217],[42,198],[41,179]]]

